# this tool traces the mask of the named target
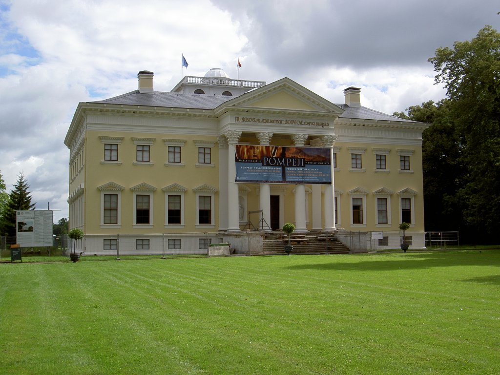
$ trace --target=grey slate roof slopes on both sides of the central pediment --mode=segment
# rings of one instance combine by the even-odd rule
[[[139,90],[130,91],[122,95],[114,96],[104,100],[91,101],[91,103],[102,104],[123,104],[123,105],[146,105],[153,107],[172,107],[189,109],[214,109],[220,104],[233,99],[235,96],[210,96],[206,94],[184,94],[178,92],[154,91],[150,93],[140,93]],[[347,104],[335,104],[342,108],[344,112],[340,118],[359,118],[383,121],[403,121],[411,120],[392,116],[374,109],[363,106],[349,106]]]

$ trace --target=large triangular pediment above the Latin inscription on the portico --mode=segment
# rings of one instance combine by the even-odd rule
[[[215,111],[240,109],[245,111],[322,113],[340,115],[343,109],[308,90],[288,77],[253,89],[226,101]]]

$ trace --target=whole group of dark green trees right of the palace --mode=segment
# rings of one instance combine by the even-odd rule
[[[446,98],[394,112],[431,123],[422,133],[425,230],[498,243],[500,33],[485,26],[470,41],[437,48],[428,61]]]

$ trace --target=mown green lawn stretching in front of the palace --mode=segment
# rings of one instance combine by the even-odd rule
[[[1,374],[500,373],[500,250],[4,263],[0,281]]]

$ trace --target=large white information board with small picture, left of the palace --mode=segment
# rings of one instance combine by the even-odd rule
[[[52,211],[16,211],[15,234],[21,247],[52,246]]]

